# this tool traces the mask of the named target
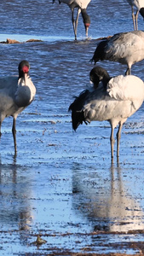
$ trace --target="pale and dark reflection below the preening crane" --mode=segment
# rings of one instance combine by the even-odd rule
[[[94,168],[95,169],[95,168]],[[109,172],[108,172],[109,171]],[[144,212],[129,194],[119,166],[87,172],[73,169],[73,207],[92,224],[94,231],[128,232],[144,229]]]

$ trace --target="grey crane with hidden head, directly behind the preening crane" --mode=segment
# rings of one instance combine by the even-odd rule
[[[132,31],[115,34],[102,40],[96,47],[91,61],[118,61],[127,65],[126,75],[135,62],[144,59],[144,32]]]

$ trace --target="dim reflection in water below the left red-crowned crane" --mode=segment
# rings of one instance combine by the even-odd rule
[[[30,181],[26,170],[0,160],[0,227],[4,230],[29,230],[32,224]]]

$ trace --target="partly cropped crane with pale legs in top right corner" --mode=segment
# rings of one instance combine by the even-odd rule
[[[134,24],[134,30],[138,30],[137,19],[139,12],[144,18],[144,1],[143,0],[127,0],[131,6],[132,19]],[[136,8],[136,13],[134,14],[134,8]]]

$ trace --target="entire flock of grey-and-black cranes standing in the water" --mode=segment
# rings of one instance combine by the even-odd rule
[[[72,11],[72,26],[77,39],[78,17],[82,14],[86,37],[90,25],[86,12],[91,0],[59,0],[66,3]],[[53,0],[53,3],[55,0]],[[117,156],[119,156],[119,142],[122,126],[126,119],[135,113],[144,100],[144,83],[136,76],[130,75],[131,66],[144,59],[144,32],[137,30],[138,13],[144,17],[143,0],[127,0],[131,5],[134,31],[122,32],[111,38],[102,40],[96,47],[91,59],[97,61],[118,61],[127,65],[124,75],[111,78],[102,67],[94,67],[89,73],[93,87],[84,90],[69,107],[72,111],[72,128],[90,123],[93,120],[107,120],[111,125],[111,156],[113,158],[113,132],[118,125]],[[136,14],[134,15],[134,7]],[[76,20],[74,9],[78,9]],[[19,77],[0,79],[0,136],[3,119],[13,117],[14,153],[17,152],[15,121],[18,114],[30,105],[36,94],[36,88],[29,76],[28,61],[21,61],[18,67]]]

